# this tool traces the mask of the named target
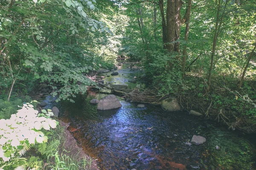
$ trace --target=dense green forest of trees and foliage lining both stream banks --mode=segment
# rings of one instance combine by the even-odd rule
[[[159,95],[256,131],[255,0],[1,0],[0,18],[3,99],[46,82],[73,102],[127,57]]]

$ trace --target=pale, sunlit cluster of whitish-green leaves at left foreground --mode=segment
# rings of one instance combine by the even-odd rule
[[[31,103],[23,104],[16,114],[10,119],[0,120],[0,158],[10,161],[21,155],[19,150],[24,144],[47,142],[47,136],[41,129],[50,130],[58,124],[56,120],[49,118],[50,110],[39,113]]]

